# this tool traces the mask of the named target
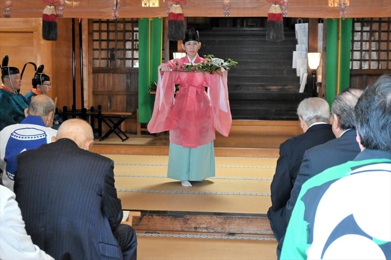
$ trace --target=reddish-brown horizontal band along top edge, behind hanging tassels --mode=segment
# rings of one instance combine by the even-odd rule
[[[3,11],[7,0],[0,0]],[[111,19],[114,0],[67,0],[65,18]],[[166,17],[168,0],[159,7],[142,7],[141,0],[121,0],[120,18]],[[231,17],[267,17],[266,0],[230,0]],[[73,5],[73,6],[72,6]],[[42,0],[12,0],[11,18],[42,17]],[[223,17],[223,0],[187,0],[182,5],[185,17]],[[328,7],[328,0],[288,0],[288,17],[339,18],[338,7]],[[391,17],[390,0],[350,0],[347,18]]]

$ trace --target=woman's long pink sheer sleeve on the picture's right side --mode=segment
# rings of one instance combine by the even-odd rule
[[[232,125],[228,100],[227,75],[227,71],[223,71],[222,76],[214,73],[206,77],[209,85],[214,127],[225,137],[228,137]]]

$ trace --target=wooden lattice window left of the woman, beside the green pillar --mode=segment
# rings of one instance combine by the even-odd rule
[[[138,67],[138,19],[92,20],[93,67]]]

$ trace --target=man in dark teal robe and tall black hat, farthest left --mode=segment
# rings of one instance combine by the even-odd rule
[[[0,87],[0,131],[11,124],[22,122],[25,118],[24,109],[28,107],[28,101],[19,94],[22,86],[21,74],[16,67],[8,66],[8,56],[4,56],[1,62]]]

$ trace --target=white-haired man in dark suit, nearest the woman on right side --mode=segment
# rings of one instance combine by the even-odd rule
[[[326,100],[309,98],[297,108],[300,126],[304,134],[284,141],[280,145],[280,158],[270,185],[272,206],[267,212],[270,226],[278,241],[285,235],[286,202],[295,183],[305,150],[335,138],[329,121],[329,105]]]

